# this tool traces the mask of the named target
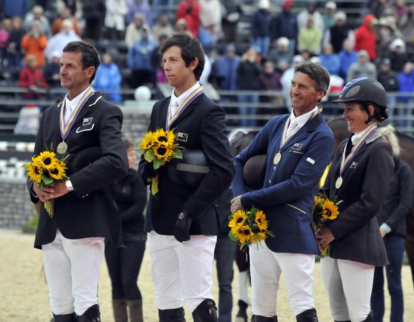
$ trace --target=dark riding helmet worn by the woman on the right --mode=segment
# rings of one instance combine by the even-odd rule
[[[386,92],[384,86],[379,81],[375,81],[375,79],[359,77],[348,82],[339,98],[332,101],[332,103],[345,102],[375,103],[380,108],[381,113],[380,115],[375,114],[374,117],[380,119],[380,121],[388,119]],[[368,113],[368,105],[363,105]]]

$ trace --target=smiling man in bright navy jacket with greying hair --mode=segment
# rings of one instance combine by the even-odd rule
[[[255,321],[277,321],[276,299],[280,275],[297,322],[317,322],[313,300],[313,268],[319,254],[313,231],[313,204],[319,179],[331,161],[333,134],[317,104],[329,86],[328,71],[316,63],[295,67],[290,81],[290,114],[270,119],[255,139],[235,157],[235,198],[231,212],[262,210],[269,221],[268,237],[252,245],[250,275]],[[244,165],[267,154],[262,188],[248,190]]]

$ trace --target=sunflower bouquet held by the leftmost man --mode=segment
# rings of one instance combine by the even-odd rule
[[[22,167],[28,170],[26,174],[28,179],[34,181],[39,188],[43,188],[44,186],[53,185],[57,181],[69,178],[65,173],[65,170],[67,169],[66,160],[68,157],[69,155],[61,158],[57,157],[51,146],[50,151],[46,150],[40,152],[39,155],[32,157],[31,162],[23,164]],[[53,217],[53,200],[50,200],[43,205],[50,218]]]

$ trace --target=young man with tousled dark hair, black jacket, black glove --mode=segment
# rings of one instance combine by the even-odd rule
[[[205,61],[197,39],[175,34],[159,52],[174,89],[171,97],[155,103],[149,130],[172,130],[184,148],[183,162],[186,154],[201,151],[208,172],[195,186],[180,180],[192,174],[177,174],[175,160],[157,171],[144,158],[139,163],[146,184],[158,175],[159,191],[150,195],[145,223],[155,303],[161,322],[186,321],[184,300],[194,321],[217,321],[211,294],[219,234],[215,201],[228,189],[234,173],[224,110],[206,97],[199,84]]]

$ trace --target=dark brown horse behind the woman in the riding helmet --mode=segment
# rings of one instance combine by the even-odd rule
[[[351,132],[348,132],[348,125],[344,119],[333,119],[328,123],[335,137],[335,150],[337,145],[348,138]],[[400,158],[406,161],[411,169],[414,171],[414,138],[397,132],[398,142],[400,143],[401,154]],[[414,192],[413,192],[414,193]],[[410,213],[406,217],[407,234],[406,234],[406,255],[411,266],[411,274],[414,283],[414,201]]]

